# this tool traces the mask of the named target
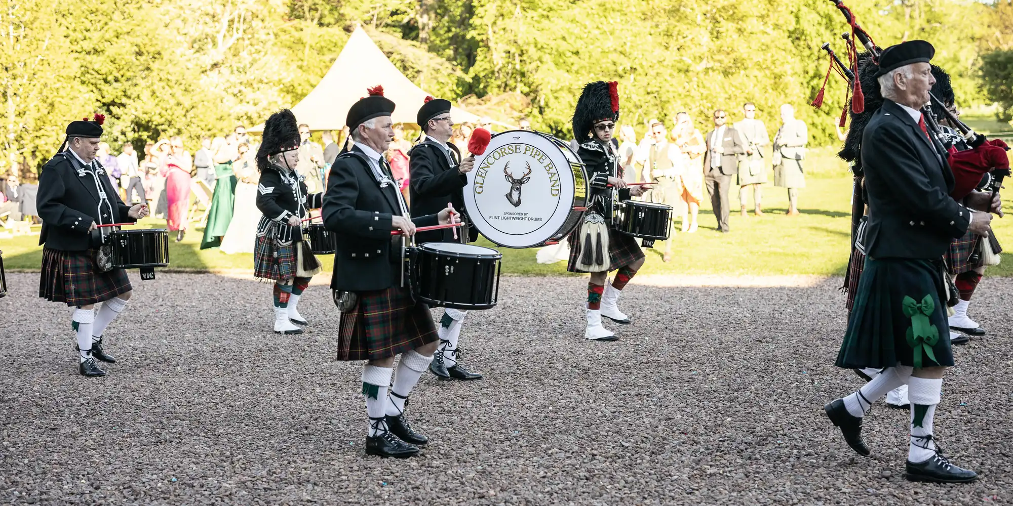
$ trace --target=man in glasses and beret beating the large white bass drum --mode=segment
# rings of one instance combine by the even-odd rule
[[[450,100],[425,97],[425,102],[418,108],[416,122],[425,134],[425,141],[415,145],[408,152],[408,170],[411,184],[411,214],[416,216],[439,213],[452,203],[454,208],[465,218],[464,192],[462,188],[468,183],[467,173],[475,166],[475,157],[469,156],[461,160],[461,152],[448,141],[454,133],[454,120],[450,116]],[[463,242],[474,242],[477,234],[470,230],[470,224],[460,229]],[[455,239],[451,230],[434,230],[419,232],[415,236],[418,244],[442,241],[462,242]],[[443,381],[450,380],[481,380],[482,374],[471,372],[461,365],[458,355],[458,340],[461,337],[461,325],[467,311],[451,308],[444,309],[440,319],[440,348],[430,363],[430,370]]]

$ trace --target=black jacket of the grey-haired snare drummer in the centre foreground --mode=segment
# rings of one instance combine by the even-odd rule
[[[394,230],[391,220],[401,216],[401,207],[394,178],[388,173],[387,179],[381,187],[359,148],[337,157],[330,166],[323,223],[337,236],[331,289],[380,290],[400,282],[401,252],[393,247],[390,232]],[[437,225],[438,220],[430,215],[412,222],[424,227]]]

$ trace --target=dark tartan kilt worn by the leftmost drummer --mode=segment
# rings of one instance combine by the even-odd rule
[[[95,250],[61,251],[43,248],[38,297],[67,306],[88,306],[108,301],[133,289],[127,271],[95,270]]]

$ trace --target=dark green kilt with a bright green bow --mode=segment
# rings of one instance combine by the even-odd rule
[[[837,366],[953,365],[939,269],[931,260],[866,257]]]

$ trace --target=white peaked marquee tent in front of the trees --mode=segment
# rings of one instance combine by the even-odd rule
[[[352,104],[366,96],[367,88],[378,84],[383,86],[384,96],[397,104],[392,116],[394,122],[414,123],[415,114],[428,93],[404,77],[366,30],[359,26],[348,37],[334,65],[313,91],[292,107],[292,112],[300,123],[309,124],[311,130],[341,130]],[[479,119],[459,107],[453,107],[451,115],[455,122],[476,122]],[[250,132],[262,130],[263,123],[260,123]]]

